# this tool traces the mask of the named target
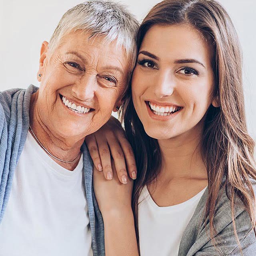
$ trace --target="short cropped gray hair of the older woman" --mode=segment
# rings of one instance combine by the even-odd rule
[[[137,56],[138,27],[136,18],[121,4],[89,0],[74,6],[62,16],[50,39],[49,49],[55,49],[66,34],[82,30],[89,33],[89,38],[103,36],[106,42],[116,40],[117,46],[124,47],[132,72]]]

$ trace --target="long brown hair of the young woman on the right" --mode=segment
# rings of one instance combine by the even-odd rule
[[[224,188],[230,199],[234,234],[239,244],[234,206],[236,199],[241,199],[250,215],[252,228],[255,228],[255,197],[250,178],[256,179],[256,167],[254,141],[246,128],[238,36],[227,12],[214,0],[164,0],[156,4],[143,20],[138,32],[138,49],[152,26],[173,24],[189,24],[212,45],[213,96],[218,99],[220,107],[209,107],[202,136],[202,155],[208,174],[205,218],[209,218],[210,237],[214,239],[214,214],[220,190]],[[159,174],[162,158],[158,141],[146,134],[136,114],[131,94],[129,88],[122,118],[138,168],[132,199],[138,238],[138,198],[142,188]]]

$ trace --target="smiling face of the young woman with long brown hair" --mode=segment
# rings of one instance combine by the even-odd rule
[[[150,137],[200,135],[213,101],[211,60],[208,44],[190,26],[148,30],[132,76],[132,99]]]

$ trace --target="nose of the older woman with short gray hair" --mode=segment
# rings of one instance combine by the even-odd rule
[[[72,86],[72,93],[79,100],[92,100],[96,88],[96,76],[93,74],[84,74],[84,76]]]

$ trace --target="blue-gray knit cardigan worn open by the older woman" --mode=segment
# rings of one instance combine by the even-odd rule
[[[13,174],[28,134],[30,98],[37,90],[37,87],[30,85],[27,90],[11,89],[0,93],[0,222],[10,196]],[[104,256],[104,224],[92,187],[92,160],[85,144],[81,149],[92,251],[94,256]]]

